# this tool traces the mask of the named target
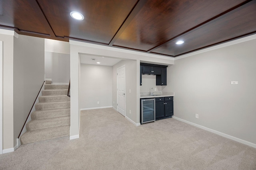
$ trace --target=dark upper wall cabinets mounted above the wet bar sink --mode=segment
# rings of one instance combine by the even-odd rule
[[[164,65],[140,63],[140,86],[142,86],[141,74],[154,74],[156,75],[156,86],[166,86],[167,67]]]

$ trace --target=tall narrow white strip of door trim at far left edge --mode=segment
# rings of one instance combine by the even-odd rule
[[[3,154],[3,41],[0,41],[0,154]]]

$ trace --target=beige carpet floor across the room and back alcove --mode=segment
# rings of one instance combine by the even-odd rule
[[[0,155],[1,170],[256,170],[256,149],[176,119],[134,126],[111,108],[82,111],[80,138]]]

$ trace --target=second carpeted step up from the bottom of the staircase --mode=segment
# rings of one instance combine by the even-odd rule
[[[29,121],[26,124],[27,131],[34,131],[37,129],[46,129],[49,127],[57,127],[70,125],[70,116],[62,116],[62,117],[51,117],[46,119],[35,119]]]

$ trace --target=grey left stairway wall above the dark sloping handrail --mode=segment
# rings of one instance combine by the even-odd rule
[[[14,146],[44,82],[44,39],[14,38],[13,102]]]

